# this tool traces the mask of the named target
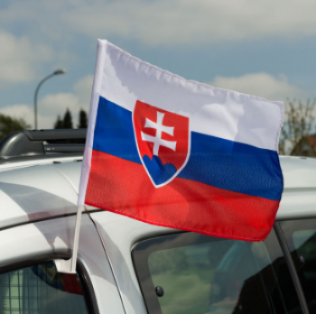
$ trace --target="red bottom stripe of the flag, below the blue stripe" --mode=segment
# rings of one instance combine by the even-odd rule
[[[158,226],[264,240],[279,201],[175,178],[155,189],[143,165],[93,151],[86,204]],[[256,209],[255,209],[256,208]]]

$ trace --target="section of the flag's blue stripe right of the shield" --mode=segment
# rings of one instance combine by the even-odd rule
[[[277,152],[196,132],[178,177],[271,200],[280,200],[283,190]]]

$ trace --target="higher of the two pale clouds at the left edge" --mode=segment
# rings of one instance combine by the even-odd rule
[[[31,81],[43,62],[53,60],[53,51],[42,44],[33,44],[27,37],[15,37],[0,30],[0,82]]]

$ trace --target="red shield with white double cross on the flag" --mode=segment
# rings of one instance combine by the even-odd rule
[[[133,125],[137,149],[153,185],[168,184],[189,160],[189,118],[137,100]]]

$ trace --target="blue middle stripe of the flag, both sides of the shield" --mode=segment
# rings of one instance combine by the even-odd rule
[[[132,113],[100,97],[93,149],[142,164]],[[191,132],[191,156],[178,177],[271,200],[280,200],[283,189],[277,152],[196,132]]]

